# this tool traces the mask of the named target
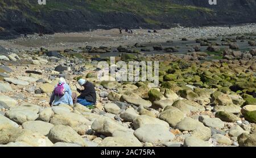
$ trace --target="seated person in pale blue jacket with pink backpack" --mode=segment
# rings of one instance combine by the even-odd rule
[[[59,79],[59,83],[55,86],[52,92],[49,104],[53,106],[59,104],[73,105],[72,91],[64,78]]]

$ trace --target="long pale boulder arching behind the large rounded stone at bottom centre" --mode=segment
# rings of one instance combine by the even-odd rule
[[[166,127],[170,127],[169,124],[165,121],[162,121],[158,118],[145,116],[145,115],[138,116],[133,121],[134,129],[138,129],[138,128],[143,127],[144,125],[147,125],[147,124],[159,124],[159,125],[163,125],[163,126],[166,126]]]

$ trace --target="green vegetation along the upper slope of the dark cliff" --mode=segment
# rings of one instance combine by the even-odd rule
[[[24,16],[40,23],[32,12],[50,13],[52,11],[98,11],[98,12],[131,12],[144,17],[144,21],[149,24],[161,24],[154,17],[164,14],[183,14],[183,12],[204,11],[211,14],[212,10],[204,7],[183,6],[174,4],[168,0],[55,0],[47,1],[46,5],[38,5],[37,1],[28,0],[0,0],[0,16],[5,10],[22,11]],[[27,11],[27,12],[26,12]],[[182,16],[187,19],[187,16]]]

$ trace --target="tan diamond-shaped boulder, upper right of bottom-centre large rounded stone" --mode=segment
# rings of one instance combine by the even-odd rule
[[[169,123],[171,127],[175,127],[185,117],[185,114],[174,106],[166,106],[159,118]]]

